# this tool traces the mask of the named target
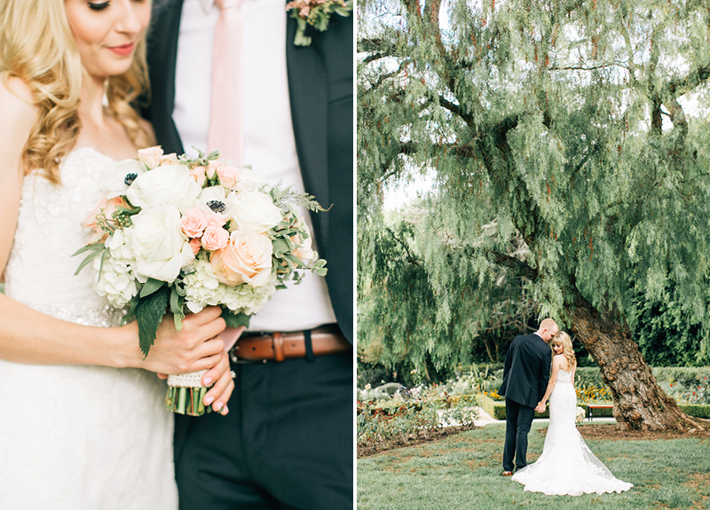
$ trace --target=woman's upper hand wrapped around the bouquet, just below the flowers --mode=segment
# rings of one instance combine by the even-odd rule
[[[170,313],[162,318],[153,347],[146,359],[138,350],[138,326],[131,328],[130,361],[128,366],[145,368],[155,373],[190,373],[208,370],[220,363],[225,354],[225,342],[218,336],[225,329],[225,319],[219,317],[219,307],[208,307],[183,319],[180,331],[175,329]]]

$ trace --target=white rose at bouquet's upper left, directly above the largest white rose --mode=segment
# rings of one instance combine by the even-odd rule
[[[140,208],[170,204],[183,212],[192,208],[202,188],[183,165],[167,165],[146,172],[126,192],[130,203]]]

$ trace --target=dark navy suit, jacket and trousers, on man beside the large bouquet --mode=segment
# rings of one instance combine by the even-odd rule
[[[285,3],[284,3],[285,4]],[[171,114],[182,0],[154,4],[148,38],[152,87],[144,110],[166,153],[183,153]],[[284,16],[287,16],[284,10]],[[310,46],[287,23],[288,90],[304,186],[335,317],[352,343],[352,17],[333,15]],[[248,98],[247,98],[248,100]],[[181,510],[353,507],[352,355],[233,365],[227,416],[176,415]]]

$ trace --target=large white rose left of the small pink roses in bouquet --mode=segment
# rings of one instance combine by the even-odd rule
[[[131,248],[141,282],[149,278],[172,282],[194,260],[193,248],[180,229],[180,213],[167,204],[144,208],[133,217]]]

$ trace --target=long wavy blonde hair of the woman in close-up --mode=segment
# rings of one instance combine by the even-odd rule
[[[62,0],[0,0],[0,75],[25,82],[39,108],[35,126],[22,149],[27,175],[43,169],[44,177],[59,184],[59,161],[79,136],[79,95],[84,70]],[[106,87],[108,109],[126,130],[133,145],[150,139],[131,106],[149,92],[145,34],[136,44],[130,69],[110,76]]]

